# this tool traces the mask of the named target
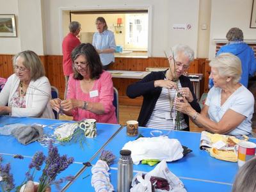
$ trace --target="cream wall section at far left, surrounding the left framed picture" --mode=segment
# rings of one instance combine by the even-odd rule
[[[17,54],[30,49],[44,54],[41,0],[0,0],[1,14],[15,14],[17,37],[0,37],[1,54]]]

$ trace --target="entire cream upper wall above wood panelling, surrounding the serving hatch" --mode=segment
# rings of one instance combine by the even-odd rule
[[[16,54],[24,49],[32,49],[38,54],[61,55],[62,37],[68,31],[68,11],[86,8],[113,10],[115,7],[150,6],[151,56],[164,56],[163,51],[169,51],[172,45],[182,43],[191,46],[195,52],[198,51],[196,57],[209,56],[211,59],[215,54],[213,39],[225,39],[228,29],[232,27],[241,28],[244,39],[256,40],[256,29],[249,28],[253,0],[212,0],[211,5],[209,0],[160,1],[0,0],[1,14],[16,15],[18,35],[14,38],[0,37],[0,54]],[[209,12],[211,17],[207,15]],[[202,22],[207,22],[210,26],[209,20],[210,31],[200,31]],[[172,29],[173,24],[191,24],[191,29]]]

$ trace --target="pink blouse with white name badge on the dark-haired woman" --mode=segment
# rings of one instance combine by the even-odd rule
[[[100,78],[94,81],[90,93],[84,93],[81,90],[80,81],[74,79],[74,74],[68,79],[67,99],[78,99],[88,102],[100,102],[104,106],[105,113],[97,115],[90,111],[76,108],[72,115],[74,120],[83,120],[84,118],[94,118],[99,123],[117,124],[115,107],[113,106],[114,91],[112,76],[109,72],[103,71]],[[93,94],[92,94],[93,93]]]

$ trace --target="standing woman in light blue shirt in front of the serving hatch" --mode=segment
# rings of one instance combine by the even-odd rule
[[[115,61],[115,36],[112,31],[108,30],[108,25],[103,17],[96,19],[96,26],[98,32],[93,35],[92,45],[99,53],[103,69],[108,70],[109,65]]]

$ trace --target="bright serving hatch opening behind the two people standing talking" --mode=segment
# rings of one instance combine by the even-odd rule
[[[97,17],[104,17],[116,45],[127,51],[148,51],[148,10],[70,12],[70,21],[81,23],[81,42],[92,42]]]

